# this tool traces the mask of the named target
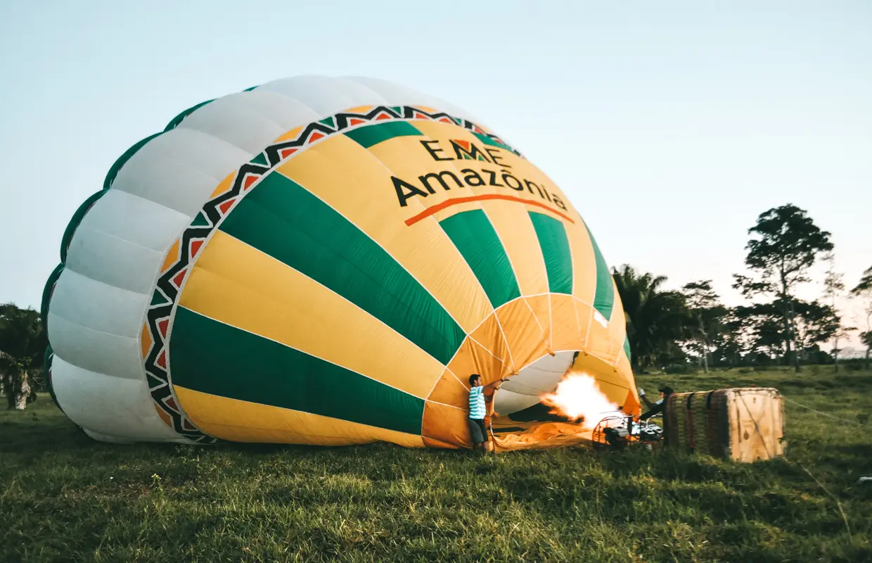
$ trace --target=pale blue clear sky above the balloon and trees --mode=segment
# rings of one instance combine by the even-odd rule
[[[794,203],[855,285],[872,266],[869,30],[868,1],[0,0],[0,302],[38,308],[66,224],[127,148],[301,74],[465,108],[568,194],[612,265],[712,279],[736,305],[747,230]]]

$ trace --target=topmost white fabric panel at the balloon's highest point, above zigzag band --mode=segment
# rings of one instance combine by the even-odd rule
[[[255,89],[282,93],[310,107],[318,119],[355,106],[382,105],[378,93],[356,81],[333,79],[326,76],[295,76],[279,79]],[[297,123],[303,125],[303,123]],[[295,126],[296,127],[296,126]]]

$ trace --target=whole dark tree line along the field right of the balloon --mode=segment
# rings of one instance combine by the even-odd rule
[[[624,264],[613,269],[623,300],[635,371],[698,364],[715,366],[832,363],[839,370],[841,343],[852,333],[872,352],[872,267],[848,290],[835,267],[830,233],[793,204],[768,209],[748,230],[747,271],[733,275],[734,289],[747,300],[727,307],[712,280],[663,289],[664,276],[641,273]],[[826,276],[820,299],[797,297],[811,283],[809,271],[822,262]],[[849,326],[836,308],[840,299],[859,299],[863,316]],[[832,345],[830,353],[821,344]]]

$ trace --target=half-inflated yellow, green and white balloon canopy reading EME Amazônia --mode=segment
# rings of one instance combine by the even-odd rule
[[[528,424],[569,373],[639,409],[569,198],[463,110],[382,80],[280,79],[179,114],[75,212],[61,263],[51,390],[97,440],[467,447],[473,373],[510,377],[493,407],[527,422],[504,449],[554,437]]]

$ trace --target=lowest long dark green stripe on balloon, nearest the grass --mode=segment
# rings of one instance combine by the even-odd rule
[[[175,312],[170,358],[173,384],[184,388],[421,433],[424,400],[184,307]]]

